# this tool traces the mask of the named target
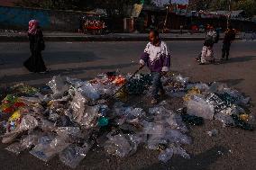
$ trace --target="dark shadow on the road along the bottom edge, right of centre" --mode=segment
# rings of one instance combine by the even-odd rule
[[[195,156],[192,155],[190,159],[185,159],[183,157],[172,157],[167,164],[158,163],[144,167],[141,170],[206,170],[208,169],[208,167],[214,164],[218,158],[222,157],[222,155],[225,155],[227,153],[227,148],[219,146],[206,150],[206,152],[204,153]]]

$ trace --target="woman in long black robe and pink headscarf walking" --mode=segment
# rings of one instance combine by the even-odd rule
[[[33,73],[45,73],[47,69],[41,58],[41,51],[45,49],[45,44],[38,21],[29,22],[28,36],[32,55],[23,63],[23,66]]]

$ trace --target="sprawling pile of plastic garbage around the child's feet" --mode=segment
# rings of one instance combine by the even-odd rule
[[[192,144],[187,126],[201,125],[204,119],[253,130],[250,98],[224,84],[191,83],[187,77],[169,74],[162,77],[166,94],[182,98],[183,107],[172,111],[163,101],[143,110],[126,103],[127,96],[147,97],[151,76],[137,75],[125,84],[130,77],[115,72],[89,81],[53,76],[41,90],[14,85],[0,105],[0,114],[8,117],[2,121],[2,142],[17,155],[30,150],[43,161],[59,156],[63,164],[75,168],[96,148],[128,157],[145,146],[159,150],[164,163],[173,155],[189,158],[182,148]]]

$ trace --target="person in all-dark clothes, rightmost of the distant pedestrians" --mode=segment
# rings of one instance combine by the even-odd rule
[[[233,31],[232,26],[229,26],[229,28],[227,29],[227,31],[225,31],[225,34],[224,34],[223,49],[222,49],[223,53],[221,58],[222,60],[224,60],[224,58],[228,60],[230,46],[234,39],[235,39],[235,32]]]

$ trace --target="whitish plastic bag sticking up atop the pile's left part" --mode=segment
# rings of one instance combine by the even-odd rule
[[[50,86],[55,97],[59,97],[69,90],[69,86],[65,84],[61,76],[53,76],[47,85]]]

